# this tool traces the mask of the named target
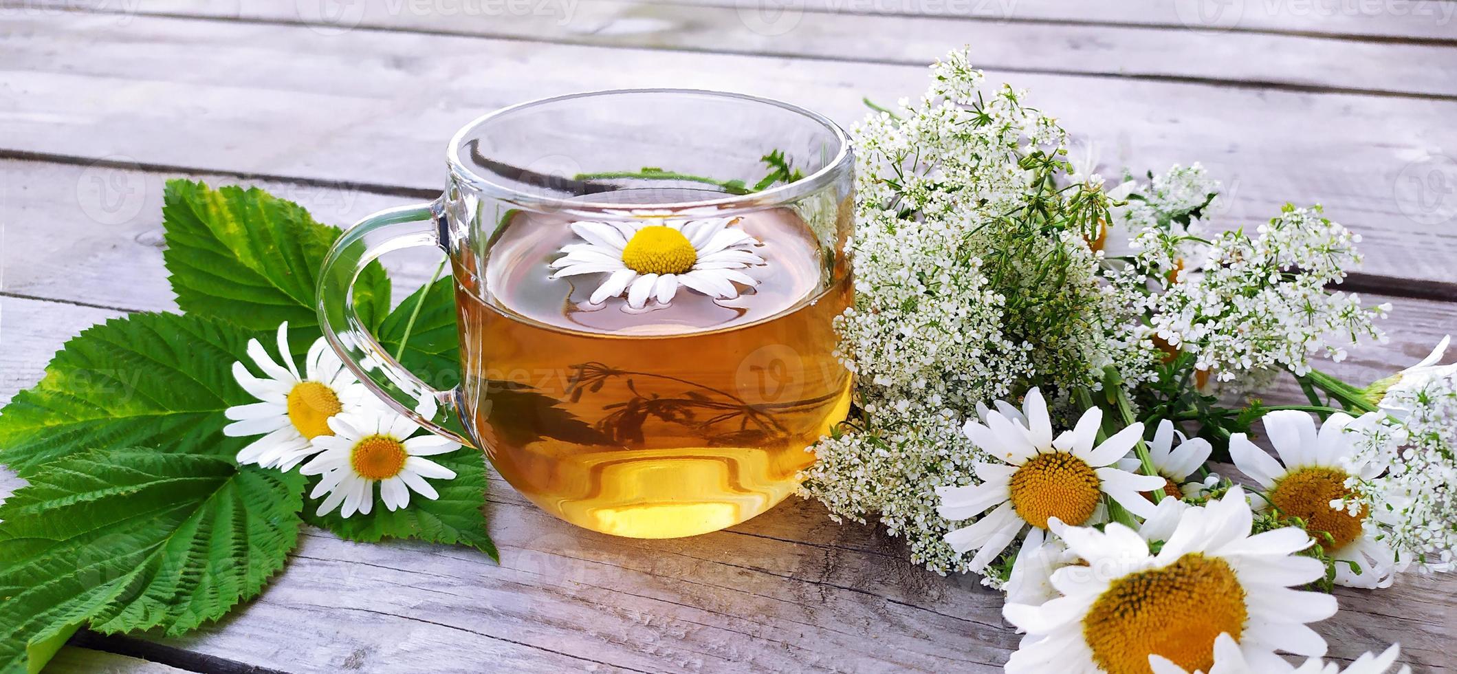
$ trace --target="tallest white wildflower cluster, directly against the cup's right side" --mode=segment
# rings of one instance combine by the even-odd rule
[[[1122,333],[1083,236],[1026,214],[1037,200],[1064,209],[1048,181],[1062,131],[1010,88],[978,93],[965,54],[932,77],[915,104],[854,128],[857,303],[838,330],[860,427],[813,448],[803,490],[836,516],[879,516],[944,572],[965,562],[930,487],[972,480],[981,457],[959,423],[1033,381],[1096,385]]]

